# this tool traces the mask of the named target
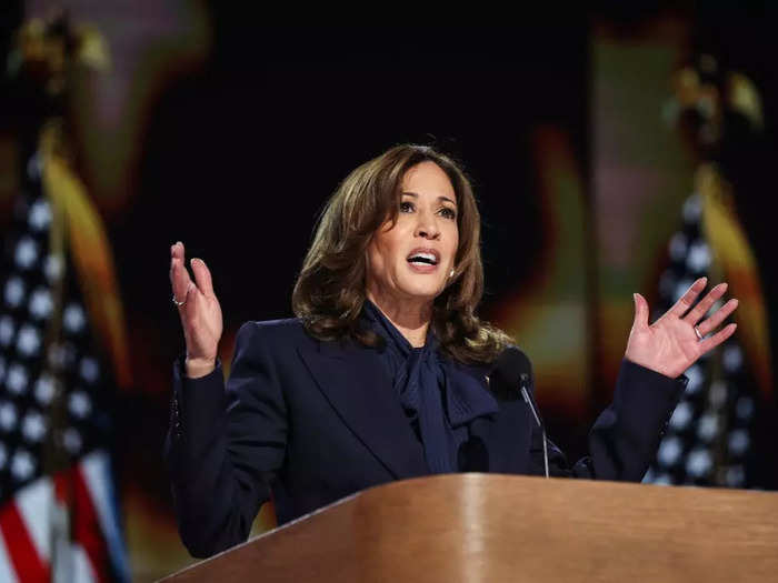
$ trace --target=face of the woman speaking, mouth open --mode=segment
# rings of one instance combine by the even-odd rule
[[[432,301],[446,287],[459,244],[457,197],[438,164],[406,172],[397,222],[368,245],[367,290],[373,298]]]

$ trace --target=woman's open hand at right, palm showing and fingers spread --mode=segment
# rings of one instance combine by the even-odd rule
[[[738,301],[729,300],[702,320],[714,303],[727,291],[727,284],[719,283],[695,305],[695,300],[705,290],[707,281],[706,278],[697,280],[680,300],[651,325],[648,324],[648,302],[642,295],[636,293],[635,322],[629,333],[625,356],[637,364],[675,379],[702,354],[731,336],[737,328],[734,323],[727,324],[708,336],[735,311]],[[702,340],[697,336],[695,325],[702,335]]]

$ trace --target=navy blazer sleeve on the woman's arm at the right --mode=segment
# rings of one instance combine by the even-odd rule
[[[639,482],[659,446],[687,379],[670,379],[625,359],[611,404],[589,432],[589,456],[570,465],[547,440],[549,473],[556,476]],[[537,406],[536,406],[537,408]],[[543,474],[542,432],[532,431],[530,473]]]

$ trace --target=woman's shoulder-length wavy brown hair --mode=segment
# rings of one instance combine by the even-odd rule
[[[456,271],[433,301],[430,325],[442,350],[455,360],[489,363],[512,340],[476,315],[483,293],[480,213],[465,172],[428,145],[391,148],[353,170],[338,187],[321,213],[302,263],[292,310],[313,338],[351,338],[368,346],[381,345],[382,340],[359,322],[366,299],[366,250],[387,220],[392,224],[397,220],[406,172],[426,161],[446,172],[459,209]]]

